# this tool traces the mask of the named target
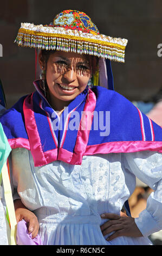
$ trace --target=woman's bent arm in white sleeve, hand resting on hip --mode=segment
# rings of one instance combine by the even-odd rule
[[[104,214],[108,219],[101,225],[103,235],[110,234],[107,240],[117,236],[148,236],[162,229],[162,154],[150,151],[124,154],[125,168],[141,181],[150,186],[154,192],[147,199],[147,206],[138,218],[116,214]]]

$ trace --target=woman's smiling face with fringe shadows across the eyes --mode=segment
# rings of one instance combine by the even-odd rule
[[[63,51],[51,53],[46,66],[50,101],[54,105],[64,102],[67,106],[85,90],[90,76],[90,66],[84,55]]]

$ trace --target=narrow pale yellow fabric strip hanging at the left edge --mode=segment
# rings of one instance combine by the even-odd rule
[[[10,227],[11,227],[10,245],[16,245],[17,222],[16,222],[16,216],[15,216],[14,202],[13,202],[13,198],[12,198],[10,180],[9,180],[9,175],[8,175],[7,162],[5,162],[2,167],[2,180],[3,180],[3,187],[4,187],[4,198],[5,198],[5,203],[6,203],[7,209],[8,209],[8,214],[9,214],[9,219],[10,219]]]

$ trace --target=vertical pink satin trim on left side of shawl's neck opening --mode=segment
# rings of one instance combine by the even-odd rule
[[[34,94],[34,93],[33,93]],[[41,139],[37,130],[37,125],[33,111],[33,94],[28,95],[23,103],[23,112],[25,118],[25,127],[28,133],[30,150],[33,155],[35,166],[47,164],[47,159],[44,156]]]

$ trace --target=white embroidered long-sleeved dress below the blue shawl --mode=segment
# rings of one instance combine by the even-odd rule
[[[13,185],[40,222],[44,245],[150,245],[147,236],[162,228],[162,155],[150,151],[83,156],[81,166],[54,161],[34,167],[27,149],[12,150]],[[105,212],[120,214],[133,193],[135,175],[154,193],[135,219],[144,237],[106,241]],[[17,198],[17,196],[16,196]]]

